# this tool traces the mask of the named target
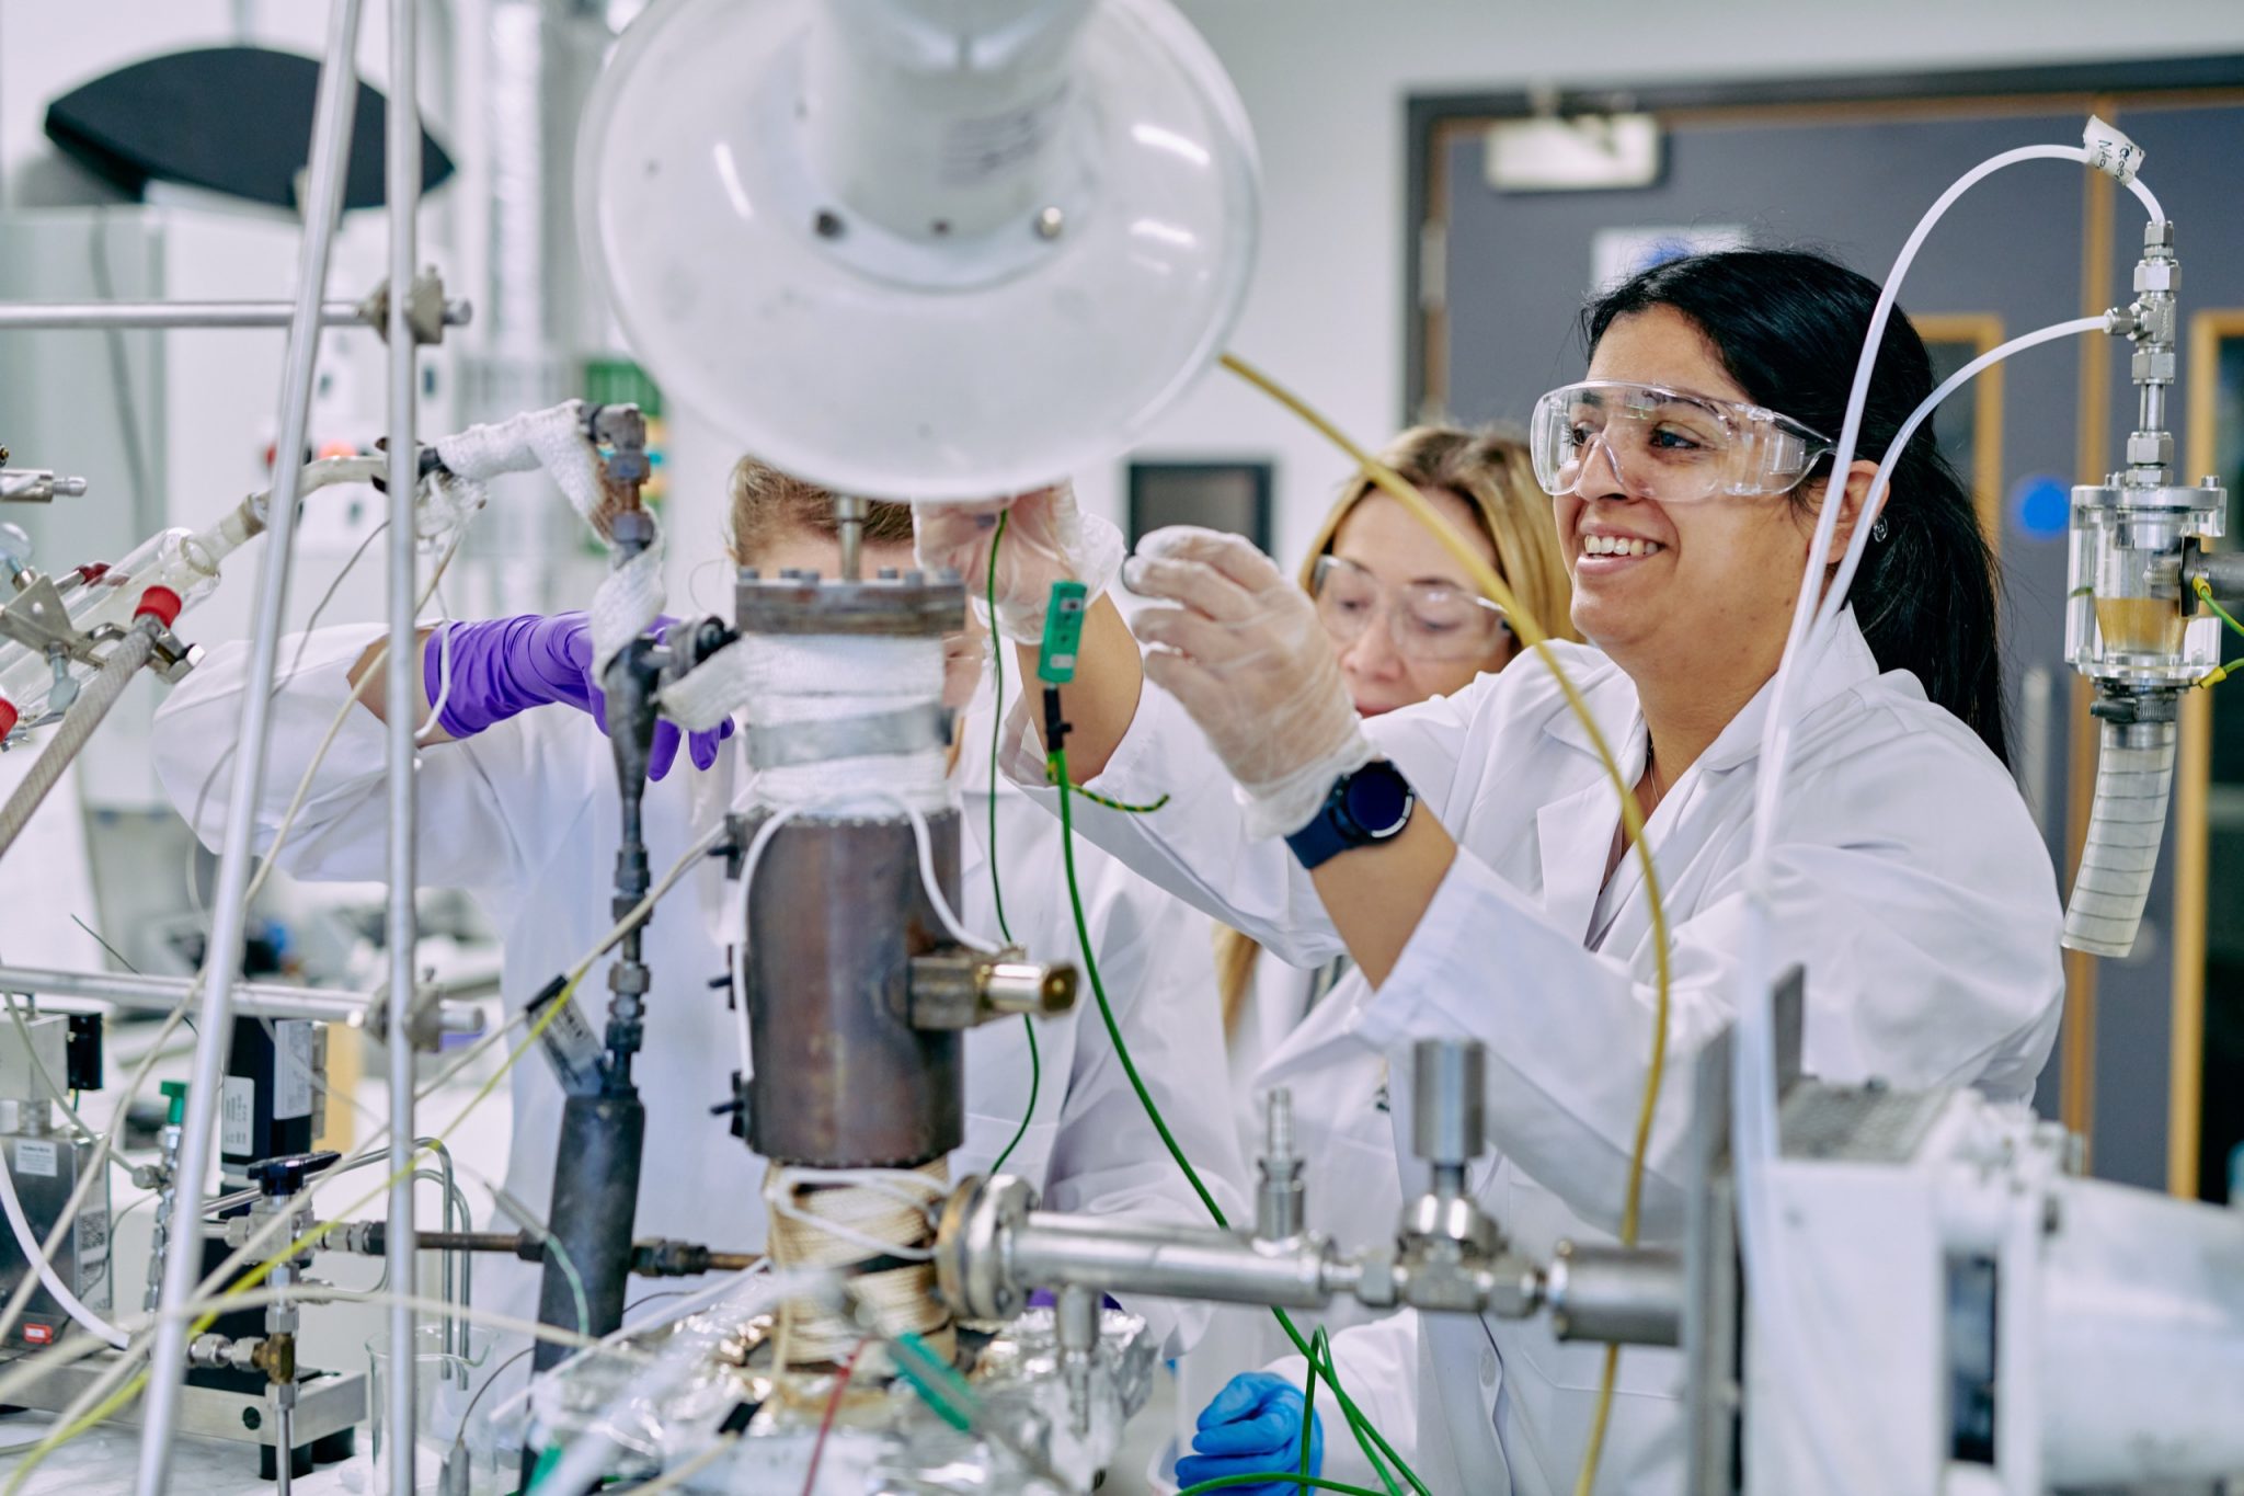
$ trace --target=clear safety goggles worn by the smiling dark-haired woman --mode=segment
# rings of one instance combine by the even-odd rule
[[[1658,500],[1788,493],[1831,455],[1827,437],[1764,406],[1613,379],[1537,399],[1528,449],[1553,496]]]

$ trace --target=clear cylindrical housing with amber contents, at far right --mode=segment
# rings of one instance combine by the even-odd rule
[[[2224,489],[2073,489],[2064,657],[2096,680],[2186,686],[2219,664],[2222,624],[2181,592],[2181,547],[2217,538]]]

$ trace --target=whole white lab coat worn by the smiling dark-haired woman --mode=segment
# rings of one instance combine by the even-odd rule
[[[1598,650],[1555,646],[1634,781],[1645,763],[1636,686]],[[1880,675],[1851,612],[1804,662],[1775,837],[1773,969],[1809,973],[1806,1068],[1901,1088],[1979,1086],[2024,1099],[2058,1023],[2060,911],[2049,855],[2002,765],[1907,673]],[[1692,1054],[1728,1023],[1744,938],[1744,866],[1768,689],[1667,789],[1647,837],[1672,926],[1670,1083],[1652,1135],[1645,1236],[1683,1216]],[[1026,731],[1014,722],[1008,731]],[[1492,1155],[1479,1200],[1533,1258],[1562,1238],[1611,1240],[1625,1191],[1649,1023],[1654,942],[1636,859],[1600,897],[1618,807],[1589,738],[1533,657],[1454,698],[1364,724],[1456,837],[1459,857],[1378,994],[1355,989],[1353,1034],[1391,1070],[1405,1189],[1409,1050],[1488,1045]],[[1019,738],[1008,772],[1026,781]],[[1295,964],[1337,953],[1315,886],[1284,841],[1250,841],[1232,787],[1174,698],[1149,689],[1100,792],[1171,803],[1147,816],[1077,807],[1077,828],[1140,872],[1257,935]],[[1602,904],[1602,908],[1600,908]],[[1598,929],[1609,929],[1598,940]],[[1335,994],[1333,1000],[1340,1000]],[[1562,1346],[1544,1319],[1427,1314],[1340,1337],[1373,1420],[1416,1361],[1416,1469],[1436,1492],[1569,1492],[1602,1348]],[[1627,1350],[1600,1492],[1679,1489],[1679,1357]],[[1333,1469],[1362,1469],[1328,1429]]]

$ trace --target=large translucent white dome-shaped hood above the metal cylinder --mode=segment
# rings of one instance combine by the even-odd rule
[[[640,363],[846,493],[1111,460],[1221,352],[1252,267],[1245,112],[1165,0],[1023,4],[1061,40],[994,83],[949,65],[934,9],[657,0],[577,146],[586,258]]]

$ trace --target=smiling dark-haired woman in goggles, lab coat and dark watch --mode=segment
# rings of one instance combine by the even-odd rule
[[[1530,424],[1589,639],[1551,653],[1620,758],[1665,886],[1670,1074],[1741,996],[1759,736],[1802,576],[1829,585],[1876,460],[1932,388],[1896,316],[1863,460],[1831,471],[1876,294],[1791,251],[1645,271],[1591,307],[1587,377]],[[1811,572],[1822,505],[1840,505],[1838,534]],[[1046,507],[1014,500],[1001,615],[1095,550]],[[981,574],[987,529],[922,511],[920,558]],[[1066,698],[1073,769],[1118,801],[1174,798],[1142,816],[1084,805],[1077,828],[1295,964],[1346,951],[1358,973],[1328,1000],[1398,1081],[1418,1038],[1481,1041],[1497,1157],[1477,1198],[1535,1260],[1609,1240],[1658,949],[1613,785],[1551,671],[1524,657],[1367,720],[1313,603],[1243,541],[1160,532],[1126,576],[1158,599],[1135,621],[1151,648],[1140,664],[1120,617],[1086,624]],[[1806,967],[1815,1074],[2031,1097],[2058,1021],[2058,893],[2004,769],[1988,550],[1930,428],[1896,464],[1849,603],[1800,662],[1768,969]],[[1017,727],[1034,783],[1034,722]],[[1649,1240],[1683,1213],[1685,1092],[1670,1083],[1654,1117]],[[1407,1097],[1394,1110],[1409,1115]],[[1602,1348],[1564,1346],[1542,1319],[1425,1314],[1403,1355],[1409,1335],[1411,1317],[1380,1321],[1340,1335],[1335,1355],[1373,1422],[1416,1422],[1429,1489],[1571,1489]],[[1302,1424],[1299,1361],[1277,1373],[1290,1386],[1227,1388],[1203,1413],[1189,1476],[1241,1458],[1270,1469],[1263,1431]],[[1620,1357],[1600,1492],[1681,1489],[1681,1377],[1672,1352]],[[1326,1444],[1335,1465],[1353,1456],[1342,1444]]]

